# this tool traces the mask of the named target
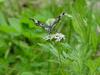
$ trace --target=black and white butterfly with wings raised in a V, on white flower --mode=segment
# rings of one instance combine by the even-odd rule
[[[50,34],[52,32],[53,28],[62,19],[63,16],[65,16],[65,12],[61,13],[58,17],[53,19],[53,21],[49,24],[42,23],[34,18],[29,18],[29,19],[32,20],[37,26],[42,27],[44,30],[46,30]]]

